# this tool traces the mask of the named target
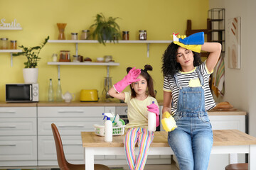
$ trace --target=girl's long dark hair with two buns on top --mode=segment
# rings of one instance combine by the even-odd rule
[[[127,73],[132,69],[132,67],[127,67]],[[156,94],[154,93],[154,85],[153,85],[153,79],[152,77],[149,75],[149,73],[147,71],[152,71],[153,67],[151,67],[151,65],[146,64],[144,66],[144,69],[141,69],[141,74],[142,77],[144,77],[144,79],[146,79],[146,83],[147,83],[147,94],[149,94],[151,97],[156,97]],[[134,89],[132,89],[132,85],[130,84],[130,88],[132,91],[132,98],[136,97],[136,92],[134,91]]]

